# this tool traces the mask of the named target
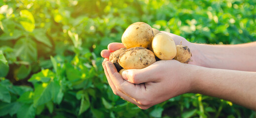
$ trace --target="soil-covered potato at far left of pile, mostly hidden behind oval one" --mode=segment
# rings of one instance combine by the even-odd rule
[[[116,50],[110,53],[110,62],[114,64],[117,71],[120,71],[122,69],[122,66],[120,66],[118,63],[118,59],[119,59],[119,56],[125,51],[126,51],[126,48],[121,48],[119,50]]]

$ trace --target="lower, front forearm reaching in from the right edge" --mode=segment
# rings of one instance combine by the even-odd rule
[[[256,72],[196,67],[192,89],[256,111]]]

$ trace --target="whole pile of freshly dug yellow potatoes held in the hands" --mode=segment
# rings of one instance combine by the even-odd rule
[[[110,54],[110,61],[120,74],[125,69],[145,68],[157,60],[187,63],[192,56],[187,46],[176,46],[171,36],[143,22],[130,25],[122,35],[122,43],[126,48]]]

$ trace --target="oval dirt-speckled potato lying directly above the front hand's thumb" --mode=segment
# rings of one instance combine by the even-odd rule
[[[125,69],[142,69],[155,62],[154,53],[143,47],[130,48],[118,59]]]

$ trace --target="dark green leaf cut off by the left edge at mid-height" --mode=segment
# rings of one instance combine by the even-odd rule
[[[0,50],[0,77],[5,77],[9,72],[9,65],[5,59],[2,51]]]

